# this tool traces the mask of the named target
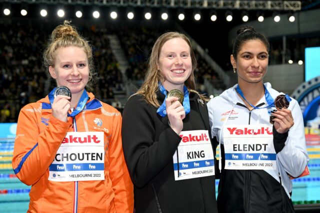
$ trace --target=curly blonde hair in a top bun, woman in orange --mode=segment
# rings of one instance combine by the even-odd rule
[[[88,59],[89,79],[86,88],[93,89],[94,66],[92,50],[83,37],[79,35],[74,26],[70,25],[71,21],[64,20],[63,24],[55,27],[51,33],[51,40],[43,52],[43,65],[48,70],[49,66],[54,67],[56,50],[60,47],[75,46],[82,48]]]

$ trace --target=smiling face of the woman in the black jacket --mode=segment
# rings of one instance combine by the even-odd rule
[[[176,37],[164,42],[158,59],[158,69],[165,77],[163,87],[170,91],[183,91],[185,80],[192,72],[190,47],[185,40]]]

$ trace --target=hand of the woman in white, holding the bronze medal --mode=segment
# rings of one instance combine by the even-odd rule
[[[273,111],[272,116],[275,116],[273,119],[273,125],[274,129],[278,133],[286,133],[294,124],[291,110],[279,109],[277,111]]]

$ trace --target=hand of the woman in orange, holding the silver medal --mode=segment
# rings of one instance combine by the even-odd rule
[[[67,122],[67,113],[70,110],[70,97],[57,95],[52,103],[52,116],[60,121]]]

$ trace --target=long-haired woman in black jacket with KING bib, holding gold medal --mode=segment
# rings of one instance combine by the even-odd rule
[[[162,34],[143,85],[124,107],[122,144],[136,213],[217,212],[215,146],[206,99],[195,91],[195,67],[189,39]],[[183,101],[171,90],[179,90]]]

